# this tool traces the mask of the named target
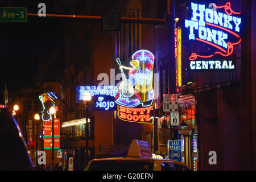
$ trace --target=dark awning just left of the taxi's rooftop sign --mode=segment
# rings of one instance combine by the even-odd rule
[[[130,145],[114,145],[96,154],[96,159],[126,157]]]

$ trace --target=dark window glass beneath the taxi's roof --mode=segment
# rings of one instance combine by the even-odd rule
[[[153,162],[141,160],[94,160],[89,171],[153,171]]]

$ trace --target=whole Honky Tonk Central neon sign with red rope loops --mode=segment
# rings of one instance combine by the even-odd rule
[[[191,3],[191,9],[191,19],[185,19],[185,28],[189,30],[188,39],[197,40],[217,50],[213,53],[206,53],[205,55],[192,52],[191,56],[189,56],[189,60],[192,61],[191,69],[198,70],[206,69],[207,67],[208,69],[234,69],[232,60],[214,60],[213,56],[228,57],[234,52],[234,46],[241,43],[239,34],[242,19],[238,17],[241,12],[233,11],[230,2],[227,2],[224,6],[213,4],[212,9],[206,8],[205,5]],[[218,11],[222,11],[223,13]],[[197,59],[209,60],[209,58],[213,62],[197,62]],[[203,63],[209,66],[204,66],[203,68]]]

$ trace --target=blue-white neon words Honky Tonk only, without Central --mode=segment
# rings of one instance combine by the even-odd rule
[[[189,28],[189,40],[199,38],[228,48],[228,34],[222,30],[216,30],[216,26],[240,32],[241,18],[217,12],[217,10],[205,9],[205,5],[197,3],[191,3],[191,9],[191,19],[185,19],[185,28]]]

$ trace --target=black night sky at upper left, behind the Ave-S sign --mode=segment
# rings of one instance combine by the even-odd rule
[[[47,5],[47,13],[56,14],[49,1],[6,1],[1,7],[27,7],[27,13],[38,13],[38,3]],[[55,1],[56,3],[57,1]],[[42,71],[42,62],[47,62],[63,43],[63,21],[57,19],[28,16],[27,22],[0,22],[1,78],[0,103],[3,103],[5,84],[10,92],[20,88],[35,88],[36,79]],[[50,69],[50,68],[47,68]],[[55,72],[61,72],[56,64],[51,65]],[[46,77],[51,76],[46,75]],[[56,78],[52,78],[54,81]]]

